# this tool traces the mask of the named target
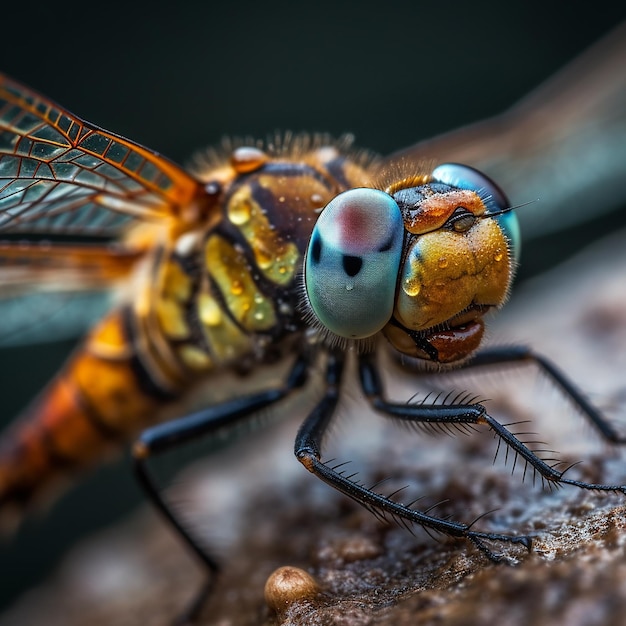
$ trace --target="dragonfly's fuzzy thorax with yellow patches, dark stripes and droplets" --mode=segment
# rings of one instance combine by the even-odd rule
[[[197,172],[219,186],[218,212],[205,228],[176,233],[156,261],[151,299],[167,360],[184,375],[265,362],[305,330],[301,275],[311,232],[322,207],[366,178],[339,146],[316,141],[302,140],[292,155],[239,147]],[[395,245],[397,256],[401,236]]]

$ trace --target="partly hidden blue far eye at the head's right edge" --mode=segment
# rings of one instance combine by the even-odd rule
[[[469,165],[444,163],[433,170],[432,176],[440,183],[458,187],[459,189],[475,191],[490,213],[502,211],[511,206],[504,192],[496,183]],[[511,256],[516,262],[519,261],[522,237],[515,211],[507,211],[495,216],[493,219],[498,222],[509,242]]]

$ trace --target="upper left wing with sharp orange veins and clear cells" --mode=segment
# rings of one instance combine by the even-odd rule
[[[0,75],[0,233],[116,236],[203,194],[159,154]]]

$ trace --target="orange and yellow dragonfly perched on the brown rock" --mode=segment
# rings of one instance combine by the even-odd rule
[[[322,368],[324,390],[295,443],[306,469],[374,512],[465,538],[492,560],[503,558],[494,543],[530,547],[529,537],[481,531],[399,503],[323,460],[350,358],[358,362],[364,396],[387,417],[483,426],[548,482],[625,492],[623,485],[568,478],[482,403],[454,396],[432,404],[387,400],[378,365],[386,349],[411,365],[442,369],[533,361],[602,435],[622,442],[545,357],[528,348],[480,349],[485,315],[503,305],[513,279],[517,213],[525,228],[525,216],[536,210],[516,211],[502,189],[518,198],[522,185],[532,198],[542,194],[531,183],[561,185],[570,198],[584,198],[598,187],[611,194],[623,175],[623,160],[608,163],[597,154],[574,180],[548,184],[538,173],[552,171],[546,160],[571,163],[577,141],[589,146],[587,118],[606,124],[608,143],[623,85],[603,77],[620,67],[624,49],[614,41],[607,46],[608,61],[606,50],[592,52],[570,76],[500,118],[389,157],[354,150],[348,138],[296,135],[210,152],[192,170],[2,77],[0,259],[7,291],[42,283],[76,290],[110,285],[118,292],[118,304],[2,439],[3,514],[21,514],[55,480],[141,433],[133,446],[137,478],[212,580],[218,563],[163,498],[150,459],[254,419],[301,392],[310,372]],[[573,100],[577,107],[567,111],[579,134],[563,134],[560,126],[537,130],[546,130],[537,124],[546,107]],[[542,141],[533,141],[538,135]],[[515,180],[500,172],[505,150],[528,146],[533,150]],[[429,167],[425,158],[433,154],[443,159]],[[572,210],[567,219],[585,214]],[[210,387],[219,373],[243,380],[280,360],[290,362],[282,385],[234,390],[224,402],[169,419],[193,388]]]

